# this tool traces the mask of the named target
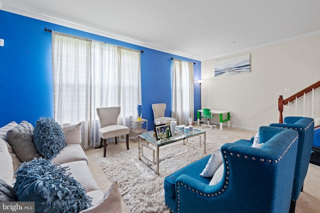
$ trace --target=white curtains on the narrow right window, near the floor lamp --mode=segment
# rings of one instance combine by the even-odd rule
[[[173,59],[172,68],[172,117],[177,124],[187,125],[193,118],[193,64]]]

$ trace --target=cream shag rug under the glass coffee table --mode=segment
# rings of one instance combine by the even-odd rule
[[[189,142],[199,145],[199,138],[190,138]],[[138,160],[138,149],[100,158],[98,164],[111,182],[119,183],[123,202],[131,212],[158,213],[166,209],[164,178],[218,149],[220,145],[208,140],[206,140],[206,153],[203,153],[203,144],[202,147],[195,147],[195,149],[182,145],[182,141],[161,146],[159,148],[159,175],[155,175],[150,168]],[[144,155],[152,157],[148,149],[143,149],[143,152]],[[151,168],[155,170],[156,165]]]

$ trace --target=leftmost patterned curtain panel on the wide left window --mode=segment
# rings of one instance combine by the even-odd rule
[[[81,125],[81,145],[91,139],[91,40],[52,31],[54,119]]]

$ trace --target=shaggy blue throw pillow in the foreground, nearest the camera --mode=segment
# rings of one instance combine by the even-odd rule
[[[90,208],[92,198],[66,173],[67,168],[41,157],[22,163],[13,186],[17,201],[35,202],[35,213],[77,213]]]

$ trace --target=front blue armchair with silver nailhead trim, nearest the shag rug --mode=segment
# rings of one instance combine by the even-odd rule
[[[222,180],[199,176],[204,157],[166,177],[165,204],[174,213],[288,213],[292,193],[298,133],[278,127],[260,127],[260,148],[249,140],[221,147]]]

